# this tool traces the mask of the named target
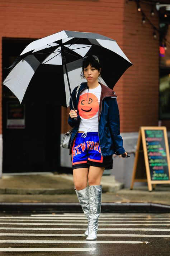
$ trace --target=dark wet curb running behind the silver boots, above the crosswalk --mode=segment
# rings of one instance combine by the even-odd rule
[[[0,212],[82,212],[79,203],[0,203]],[[170,213],[170,206],[156,203],[102,203],[101,213]]]

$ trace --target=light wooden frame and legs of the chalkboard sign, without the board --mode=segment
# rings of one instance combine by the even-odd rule
[[[147,152],[147,146],[146,146],[146,136],[145,136],[145,130],[162,130],[164,133],[164,140],[165,140],[165,150],[166,150],[166,158],[167,158],[167,166],[169,171],[169,178],[170,178],[170,155],[169,155],[169,145],[167,140],[167,131],[166,127],[164,126],[141,126],[139,129],[138,134],[138,141],[137,141],[137,148],[134,158],[134,165],[133,165],[133,173],[132,173],[132,181],[131,181],[131,189],[133,189],[134,182],[145,182],[148,183],[148,190],[152,191],[152,185],[156,186],[156,184],[170,184],[169,180],[151,180],[151,173],[150,173],[150,167],[149,167],[149,160],[148,160],[148,152]],[[141,139],[142,139],[142,146],[143,150],[140,150],[141,145]],[[143,151],[144,159],[145,159],[145,168],[146,168],[146,179],[136,179],[136,172],[137,172],[137,163],[138,163],[138,156],[139,153]]]

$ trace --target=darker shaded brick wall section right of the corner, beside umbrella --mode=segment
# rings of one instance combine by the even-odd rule
[[[141,8],[159,28],[159,17],[151,16],[151,6]],[[158,124],[159,107],[159,34],[153,37],[153,28],[146,21],[134,1],[124,1],[123,51],[134,66],[123,75],[122,130],[136,132],[140,126]]]

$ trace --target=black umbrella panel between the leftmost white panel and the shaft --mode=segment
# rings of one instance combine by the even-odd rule
[[[41,64],[30,80],[22,103],[49,103],[66,107],[63,67]]]

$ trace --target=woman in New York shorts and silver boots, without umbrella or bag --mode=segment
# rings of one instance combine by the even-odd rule
[[[120,136],[117,96],[98,82],[100,72],[98,57],[83,59],[81,77],[87,82],[72,92],[75,110],[70,101],[68,121],[74,127],[70,154],[75,191],[88,219],[87,240],[97,237],[102,194],[100,181],[104,169],[113,168],[113,154],[127,155]]]

